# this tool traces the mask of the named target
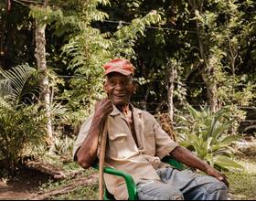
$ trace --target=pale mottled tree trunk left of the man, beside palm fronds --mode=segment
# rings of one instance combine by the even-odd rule
[[[46,8],[48,1],[44,2],[44,8]],[[40,74],[40,87],[42,90],[40,100],[45,104],[47,111],[47,132],[49,144],[53,143],[53,132],[52,124],[50,120],[51,111],[50,111],[50,90],[48,83],[48,69],[47,69],[47,59],[46,59],[46,37],[45,37],[46,25],[40,23],[36,19],[36,58],[37,58],[37,69]]]

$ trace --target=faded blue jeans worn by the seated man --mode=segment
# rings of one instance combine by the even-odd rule
[[[227,200],[228,187],[208,175],[197,175],[190,170],[175,168],[156,170],[162,182],[139,182],[140,200]]]

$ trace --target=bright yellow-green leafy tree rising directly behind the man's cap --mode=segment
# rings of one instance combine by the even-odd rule
[[[114,33],[101,33],[97,28],[91,27],[95,21],[104,20],[107,15],[97,10],[97,5],[107,1],[91,1],[80,3],[80,13],[71,13],[63,16],[58,11],[59,19],[53,26],[58,29],[72,27],[69,31],[69,42],[61,50],[61,56],[66,58],[68,69],[75,76],[69,80],[69,90],[64,90],[61,99],[69,100],[69,106],[73,112],[69,123],[80,122],[84,119],[84,113],[91,112],[96,100],[103,97],[103,69],[102,65],[112,58],[132,58],[135,40],[144,34],[145,25],[156,23],[160,16],[156,12],[135,18],[129,26],[120,27]],[[96,16],[95,16],[96,15]],[[74,20],[66,20],[69,19]],[[77,20],[79,19],[79,20]],[[59,23],[61,22],[61,23]],[[80,111],[83,111],[80,115]]]

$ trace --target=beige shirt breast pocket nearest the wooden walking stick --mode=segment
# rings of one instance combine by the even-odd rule
[[[128,142],[128,135],[124,132],[112,133],[109,136],[110,156],[114,159],[124,159],[131,154],[131,144]]]

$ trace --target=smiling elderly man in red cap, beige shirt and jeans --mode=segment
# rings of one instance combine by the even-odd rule
[[[74,160],[85,169],[91,167],[97,158],[99,135],[107,126],[105,165],[132,175],[139,199],[227,199],[229,183],[225,175],[172,141],[153,115],[130,103],[134,91],[131,62],[116,58],[103,68],[103,88],[108,98],[98,101],[93,114],[82,124]],[[168,154],[207,175],[179,171],[162,163],[161,159]],[[128,198],[122,178],[105,174],[104,179],[116,199]]]

